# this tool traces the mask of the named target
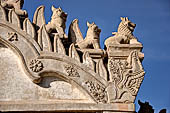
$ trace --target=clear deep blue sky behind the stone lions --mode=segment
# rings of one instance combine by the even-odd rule
[[[23,9],[31,20],[40,5],[46,7],[46,22],[52,5],[68,13],[66,32],[77,18],[85,36],[86,22],[94,21],[102,29],[102,47],[104,40],[117,30],[120,17],[129,17],[137,24],[134,35],[143,43],[145,53],[146,75],[136,100],[149,101],[156,112],[170,110],[170,0],[25,0]]]

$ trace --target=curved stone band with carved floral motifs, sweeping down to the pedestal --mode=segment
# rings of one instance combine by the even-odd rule
[[[0,31],[0,43],[17,54],[24,71],[34,83],[41,80],[44,72],[58,73],[56,75],[60,78],[87,92],[95,102],[107,103],[107,81],[86,65],[66,55],[41,51],[30,35],[6,21],[0,22]]]

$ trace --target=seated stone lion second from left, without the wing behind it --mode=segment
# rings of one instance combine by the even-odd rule
[[[51,16],[51,21],[46,25],[47,32],[57,33],[60,38],[67,38],[67,35],[65,34],[67,14],[62,11],[60,7],[55,8],[52,6],[51,10],[53,14]]]

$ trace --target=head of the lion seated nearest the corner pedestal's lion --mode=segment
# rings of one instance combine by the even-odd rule
[[[98,39],[100,36],[101,29],[98,28],[98,26],[93,22],[90,24],[87,22],[88,30],[86,37],[92,38],[92,39]]]

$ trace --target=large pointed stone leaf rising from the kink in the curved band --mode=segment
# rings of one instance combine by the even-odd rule
[[[40,45],[42,51],[52,51],[50,37],[46,31],[45,25],[43,25],[38,33],[38,44]]]

